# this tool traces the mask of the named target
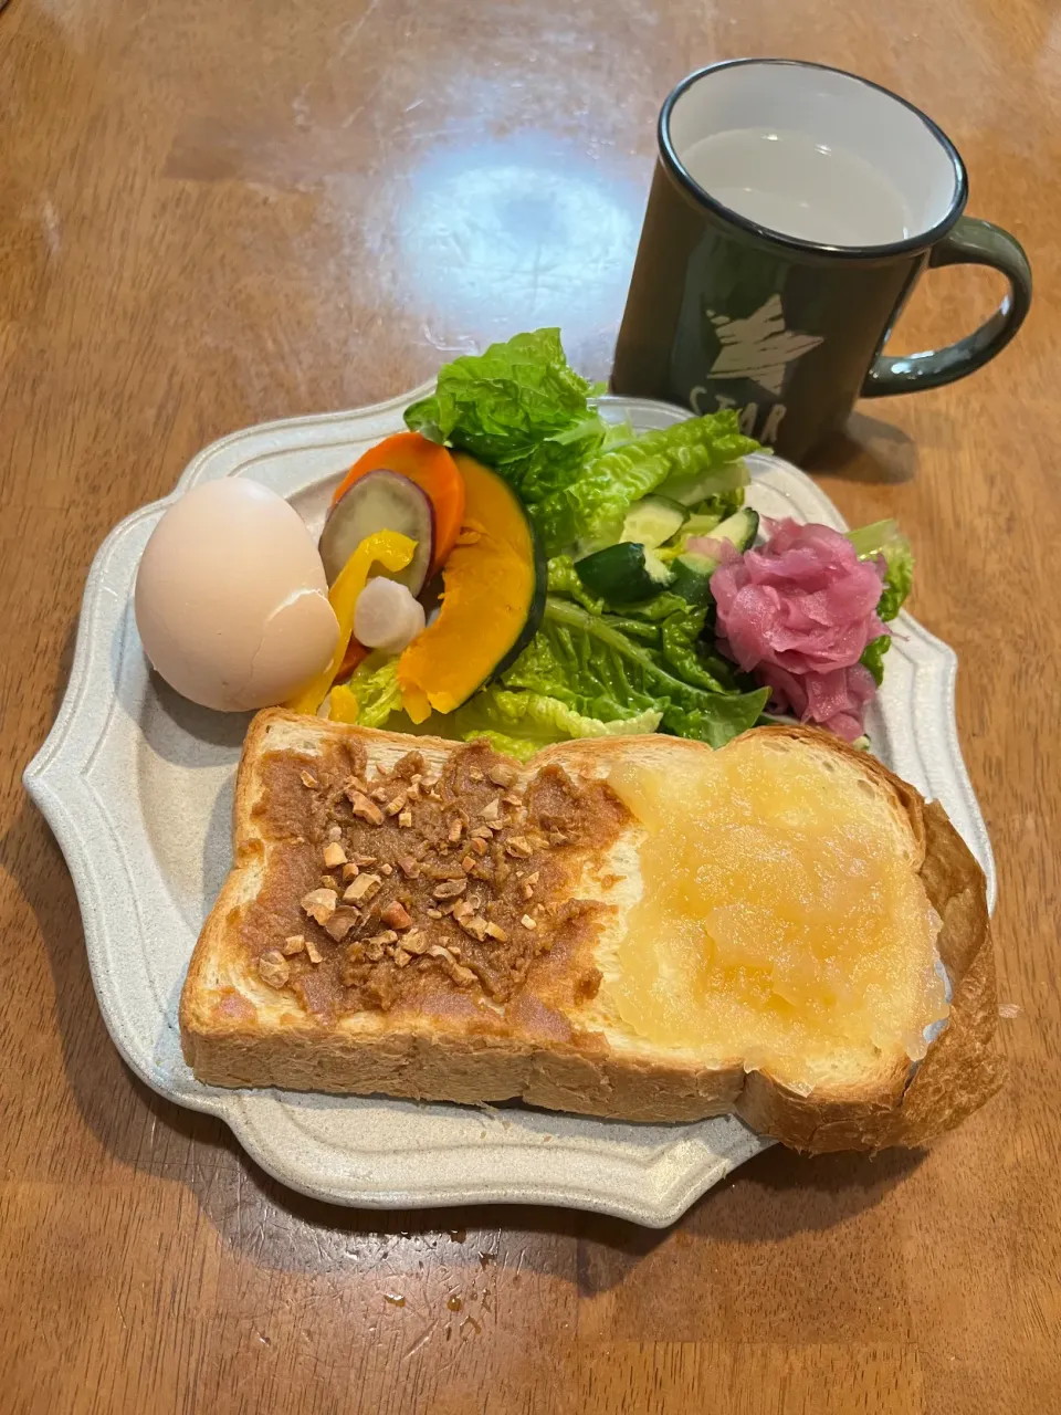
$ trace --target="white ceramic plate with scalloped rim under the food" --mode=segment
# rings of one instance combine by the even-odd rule
[[[318,1199],[376,1208],[464,1203],[566,1204],[663,1227],[770,1142],[733,1118],[621,1125],[523,1107],[224,1091],[181,1058],[177,1002],[195,937],[229,866],[232,784],[245,716],[194,708],[149,674],[133,583],[167,505],[216,477],[250,477],[320,529],[341,473],[398,432],[427,388],[352,413],[266,423],[191,463],[174,492],[123,521],[89,572],[66,695],[25,785],[66,856],[92,979],[115,1044],[149,1085],[219,1115],[279,1180]],[[666,426],[662,403],[604,400],[617,420]],[[815,484],[777,457],[750,458],[750,501],[767,515],[843,529]],[[952,651],[907,614],[869,717],[877,754],[938,797],[987,874],[987,833],[962,764]]]

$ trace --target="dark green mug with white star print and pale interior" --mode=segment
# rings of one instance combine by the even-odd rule
[[[683,79],[659,161],[611,386],[736,408],[799,460],[857,398],[951,383],[1009,344],[1031,301],[1020,243],[963,216],[965,166],[905,99],[819,64],[731,59]],[[925,266],[986,265],[1010,293],[946,348],[883,355]]]

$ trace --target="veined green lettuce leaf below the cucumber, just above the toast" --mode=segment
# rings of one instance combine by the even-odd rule
[[[754,726],[770,693],[734,691],[727,669],[713,672],[716,662],[696,649],[703,620],[703,610],[678,596],[658,596],[638,616],[618,617],[550,594],[542,628],[504,683],[600,722],[656,710],[662,730],[721,747]]]

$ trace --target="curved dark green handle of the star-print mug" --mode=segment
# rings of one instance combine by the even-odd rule
[[[959,216],[951,231],[937,242],[928,265],[986,265],[1002,270],[1010,283],[1010,293],[992,317],[973,334],[924,354],[901,358],[879,355],[870,365],[862,398],[883,398],[887,393],[912,393],[920,388],[941,388],[982,368],[1006,348],[1024,323],[1031,304],[1031,266],[1016,236],[990,221]]]

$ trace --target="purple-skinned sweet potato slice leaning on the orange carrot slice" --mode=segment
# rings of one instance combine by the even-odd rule
[[[335,583],[351,555],[375,531],[398,531],[416,541],[409,566],[388,577],[419,594],[434,555],[434,508],[414,481],[383,467],[358,477],[324,522],[318,549],[328,584]]]

